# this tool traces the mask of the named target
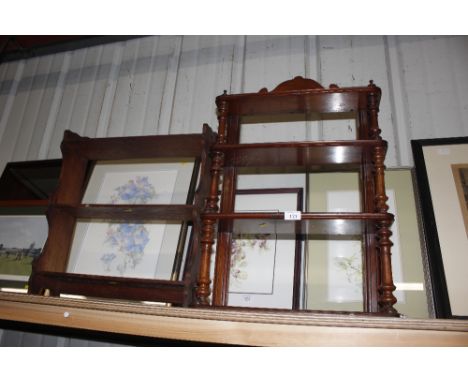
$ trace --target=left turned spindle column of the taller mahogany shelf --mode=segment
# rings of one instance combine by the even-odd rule
[[[218,106],[218,139],[217,143],[226,143],[226,121],[227,121],[227,103],[223,101]],[[211,162],[211,183],[210,193],[206,199],[205,213],[218,212],[218,191],[219,183],[224,165],[224,155],[221,151],[214,150]],[[211,253],[214,245],[216,219],[202,217],[201,232],[201,260],[200,273],[197,283],[196,295],[199,305],[210,304],[210,265]]]

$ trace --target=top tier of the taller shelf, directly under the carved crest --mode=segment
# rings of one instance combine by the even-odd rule
[[[303,89],[278,93],[249,93],[221,95],[216,98],[218,107],[228,103],[231,115],[267,115],[281,113],[343,113],[365,109],[369,94],[377,95],[376,87],[349,87],[331,89]],[[274,110],[274,113],[272,113]]]

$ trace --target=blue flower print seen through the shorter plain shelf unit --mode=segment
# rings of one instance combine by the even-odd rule
[[[193,158],[177,161],[99,161],[83,204],[184,204]],[[68,272],[169,280],[183,223],[78,219]]]

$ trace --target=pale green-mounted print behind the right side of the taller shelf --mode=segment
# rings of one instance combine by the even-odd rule
[[[387,204],[395,215],[391,226],[395,308],[413,318],[432,316],[421,251],[419,214],[411,169],[387,169]],[[359,212],[359,174],[309,175],[308,203],[312,211]],[[362,237],[313,238],[306,245],[306,305],[313,310],[362,311]]]

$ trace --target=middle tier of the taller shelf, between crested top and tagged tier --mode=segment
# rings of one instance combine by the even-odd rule
[[[363,154],[383,140],[215,144],[224,165],[234,167],[302,167],[311,171],[358,169]]]

